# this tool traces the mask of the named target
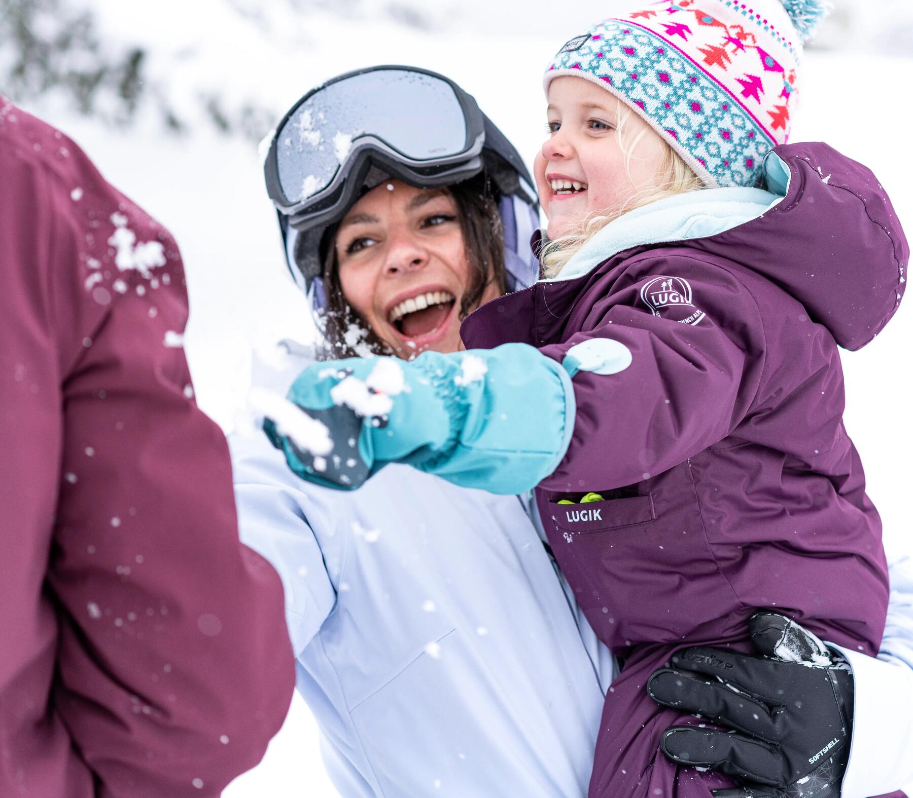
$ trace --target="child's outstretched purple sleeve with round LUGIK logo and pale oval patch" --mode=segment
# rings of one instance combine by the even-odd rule
[[[725,438],[758,392],[758,306],[729,270],[651,253],[568,341],[540,348],[573,375],[576,419],[550,490],[613,489],[684,462]],[[595,488],[594,488],[595,489]]]

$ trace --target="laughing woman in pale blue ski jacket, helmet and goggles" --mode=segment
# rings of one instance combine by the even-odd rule
[[[427,119],[438,129],[407,140]],[[526,171],[440,76],[381,68],[315,90],[279,126],[267,176],[289,268],[321,311],[332,358],[453,351],[461,316],[535,274],[523,255],[534,207]],[[504,244],[498,225],[478,224],[494,222],[495,207]],[[284,392],[304,362],[289,353],[283,374],[264,369],[257,383]],[[378,375],[373,389],[352,402],[383,402],[377,391],[391,386]],[[296,418],[279,419],[279,430]],[[313,428],[299,432],[302,457],[328,481],[352,469],[320,454]],[[263,436],[233,450],[242,536],[283,576],[299,690],[343,795],[586,793],[616,664],[521,501],[398,465],[358,492],[334,492],[301,482]],[[892,572],[895,588],[901,574]],[[913,663],[913,642],[901,638],[886,637],[887,649]],[[866,753],[854,753],[844,794],[886,793],[913,777],[897,770],[913,755],[894,748],[908,736],[873,731],[865,716],[879,697],[897,712],[913,676],[853,662],[855,746]],[[778,663],[756,663],[745,687],[766,679],[777,689]],[[869,746],[884,765],[873,767]]]

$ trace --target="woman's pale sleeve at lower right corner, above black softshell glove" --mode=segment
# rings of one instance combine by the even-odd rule
[[[853,741],[843,798],[913,794],[913,561],[888,568],[891,596],[877,658],[841,648],[853,667]]]

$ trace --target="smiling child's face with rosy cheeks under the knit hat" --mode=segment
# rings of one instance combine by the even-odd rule
[[[624,125],[625,141],[636,141],[630,177],[625,171],[616,134],[625,110],[613,94],[585,78],[551,81],[549,138],[535,163],[539,199],[549,217],[549,238],[571,233],[588,216],[616,212],[659,181],[666,142],[634,112]],[[565,188],[561,181],[572,185]]]

